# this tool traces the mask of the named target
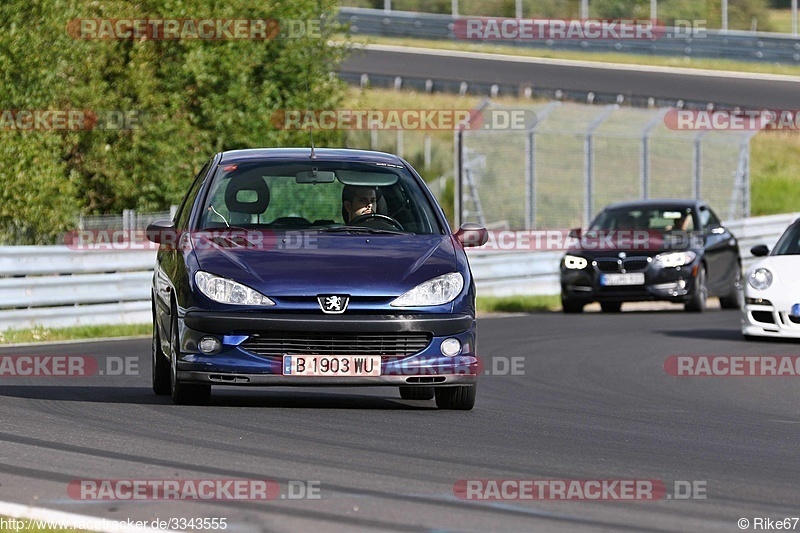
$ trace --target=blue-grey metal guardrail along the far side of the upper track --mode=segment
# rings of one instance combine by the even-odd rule
[[[343,7],[339,10],[339,22],[348,25],[353,35],[458,40],[453,33],[456,20],[457,18],[452,15],[433,13],[408,11],[387,13],[379,9],[353,7]],[[654,40],[564,39],[504,41],[503,44],[548,50],[725,58],[800,65],[800,38],[791,34],[730,30],[727,32],[708,30],[702,36],[690,36],[688,33],[688,30],[667,28],[663,37]]]

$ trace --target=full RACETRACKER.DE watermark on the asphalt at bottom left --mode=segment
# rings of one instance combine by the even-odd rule
[[[319,480],[270,479],[73,479],[67,495],[82,501],[319,500]]]

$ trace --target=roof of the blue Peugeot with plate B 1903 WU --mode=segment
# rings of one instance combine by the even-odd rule
[[[312,161],[311,148],[252,148],[222,152],[220,164],[243,163],[248,161]],[[402,165],[403,161],[393,154],[371,150],[352,150],[346,148],[315,148],[316,161],[344,161],[359,163],[391,163]]]

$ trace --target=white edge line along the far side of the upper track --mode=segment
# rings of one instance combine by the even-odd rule
[[[800,76],[785,74],[761,74],[756,72],[735,72],[731,70],[707,70],[686,67],[660,67],[654,65],[631,65],[628,63],[601,63],[599,61],[580,61],[577,59],[552,59],[546,57],[515,56],[508,54],[492,54],[488,52],[465,52],[462,50],[446,50],[442,48],[420,48],[415,46],[398,46],[391,44],[349,43],[354,49],[363,48],[376,52],[406,52],[441,57],[461,57],[466,59],[487,59],[490,61],[509,61],[513,63],[530,63],[539,65],[557,65],[564,67],[583,67],[601,70],[622,70],[631,72],[656,72],[662,74],[680,74],[683,76],[701,76],[708,78],[738,78],[763,81],[786,81],[800,83]]]

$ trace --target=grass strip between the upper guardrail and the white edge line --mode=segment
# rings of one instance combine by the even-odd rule
[[[800,76],[800,66],[782,65],[772,63],[756,63],[748,61],[733,61],[729,59],[689,58],[689,57],[662,57],[637,54],[600,53],[600,52],[573,52],[568,50],[545,50],[537,48],[524,48],[519,46],[467,43],[461,41],[437,41],[413,38],[352,36],[352,42],[391,44],[399,46],[417,46],[423,48],[436,48],[441,50],[459,50],[466,52],[483,52],[488,54],[506,54],[523,57],[539,57],[552,59],[570,59],[578,61],[593,61],[599,63],[622,63],[632,65],[652,65],[660,67],[683,67],[707,70],[729,70],[734,72],[753,72],[757,74],[782,74]]]

